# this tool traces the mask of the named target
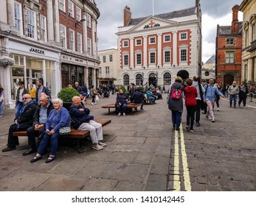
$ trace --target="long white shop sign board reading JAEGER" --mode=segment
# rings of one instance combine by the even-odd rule
[[[46,49],[39,49],[35,46],[29,46],[22,43],[17,43],[15,41],[9,41],[9,48],[13,53],[31,55],[31,56],[39,56],[42,58],[49,57],[50,59],[58,59],[58,52],[49,51]]]

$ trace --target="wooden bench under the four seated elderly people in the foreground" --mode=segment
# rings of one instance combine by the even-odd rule
[[[96,121],[97,123],[102,124],[103,127],[105,125],[111,123],[111,119],[94,119],[94,121]],[[27,136],[27,131],[13,132],[13,135],[14,136]],[[90,135],[89,130],[83,130],[82,131],[82,130],[77,130],[77,129],[72,128],[69,135],[61,135],[61,138],[75,139],[77,141],[77,148],[75,148],[75,150],[77,150],[78,153],[82,153],[83,151],[80,150],[80,139],[86,138],[89,135]]]

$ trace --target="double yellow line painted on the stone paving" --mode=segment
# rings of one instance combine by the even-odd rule
[[[181,152],[179,152],[179,149],[181,149]],[[179,173],[180,157],[181,157],[181,166],[183,169],[184,188],[185,188],[185,191],[191,191],[190,171],[187,168],[187,153],[185,149],[182,124],[180,126],[180,144],[179,144],[178,131],[175,131],[175,134],[174,134],[174,175],[173,175],[174,191],[181,191],[181,181],[180,181],[180,173]]]

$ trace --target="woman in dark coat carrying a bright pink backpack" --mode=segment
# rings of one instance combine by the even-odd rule
[[[181,93],[184,87],[181,85],[181,77],[176,77],[175,82],[170,88],[168,108],[172,111],[172,121],[173,130],[179,131],[179,126],[181,125],[181,115],[183,112],[183,100],[181,98]]]

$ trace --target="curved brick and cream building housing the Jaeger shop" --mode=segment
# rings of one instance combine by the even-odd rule
[[[40,77],[55,99],[75,81],[97,85],[97,18],[94,0],[1,0],[0,83],[4,107],[15,107],[18,82]],[[1,61],[1,60],[0,60]]]

